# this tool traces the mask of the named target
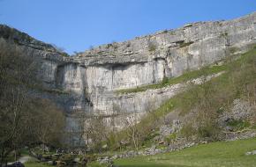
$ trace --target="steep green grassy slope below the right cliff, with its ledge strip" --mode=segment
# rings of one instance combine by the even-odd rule
[[[194,77],[208,76],[225,70],[225,73],[222,74],[222,76],[218,76],[206,84],[194,85],[190,90],[179,93],[173,98],[169,98],[154,111],[154,114],[148,114],[144,117],[137,125],[139,133],[148,132],[146,136],[143,137],[144,142],[142,145],[150,145],[151,142],[153,142],[153,137],[150,137],[151,135],[149,135],[149,133],[151,132],[150,129],[157,128],[158,124],[155,125],[154,123],[156,120],[162,118],[162,116],[175,109],[181,111],[181,114],[188,113],[192,110],[195,104],[200,104],[200,100],[204,98],[204,92],[207,87],[210,88],[208,90],[210,91],[210,96],[208,98],[211,99],[211,107],[215,108],[216,111],[218,111],[219,108],[228,106],[235,98],[243,98],[243,96],[245,96],[245,84],[252,86],[252,84],[256,82],[256,46],[252,46],[252,49],[247,53],[234,57],[237,58],[233,60],[230,59],[231,57],[228,57],[224,60],[224,63],[221,66],[212,66],[197,71],[191,71],[183,76],[171,78],[168,82],[165,82],[165,84],[154,84],[148,85],[148,87],[139,87],[137,91],[149,88],[150,86],[162,87],[168,84],[180,83]],[[135,92],[135,90],[123,90],[123,92]],[[125,134],[125,130],[121,131],[118,134],[118,138],[127,138]]]

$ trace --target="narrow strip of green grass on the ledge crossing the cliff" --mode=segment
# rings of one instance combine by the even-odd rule
[[[197,78],[206,74],[207,75],[215,74],[215,73],[224,71],[226,69],[227,69],[226,65],[220,65],[220,66],[215,65],[215,66],[206,67],[200,70],[189,71],[184,73],[184,75],[182,76],[177,76],[173,78],[163,78],[162,82],[158,84],[147,84],[147,85],[139,86],[136,88],[117,90],[116,92],[117,94],[122,94],[122,93],[134,93],[139,91],[147,91],[152,89],[160,89],[168,85],[183,83],[193,78]]]

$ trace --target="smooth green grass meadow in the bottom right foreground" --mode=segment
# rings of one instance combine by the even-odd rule
[[[256,139],[213,142],[156,156],[117,159],[119,167],[252,167],[256,156],[245,153],[256,149]]]

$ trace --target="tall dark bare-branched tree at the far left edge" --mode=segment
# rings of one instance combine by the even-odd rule
[[[33,86],[35,63],[23,56],[12,45],[0,43],[0,151],[2,164],[20,140],[20,122],[29,94],[27,87]]]

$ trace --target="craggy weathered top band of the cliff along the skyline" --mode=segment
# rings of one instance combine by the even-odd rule
[[[174,30],[163,30],[153,34],[148,34],[140,37],[135,37],[132,40],[126,40],[123,42],[113,42],[110,44],[101,45],[91,48],[84,52],[73,55],[68,59],[90,59],[95,56],[100,57],[116,57],[124,55],[139,55],[139,54],[152,54],[154,51],[161,51],[164,48],[169,47],[186,47],[192,44],[194,41],[202,40],[210,37],[212,34],[221,35],[223,32],[229,31],[230,25],[238,25],[239,22],[246,21],[246,19],[252,18],[256,20],[256,12],[252,12],[241,18],[235,18],[227,21],[207,21],[189,23],[180,28]],[[57,47],[44,43],[40,40],[35,40],[33,37],[26,33],[22,33],[15,28],[11,28],[8,25],[0,25],[0,38],[5,40],[11,40],[19,45],[26,47],[33,47],[50,53],[61,54],[68,56]]]

